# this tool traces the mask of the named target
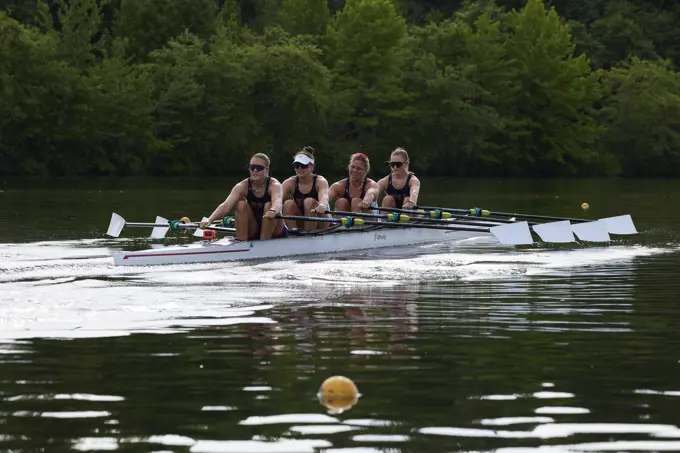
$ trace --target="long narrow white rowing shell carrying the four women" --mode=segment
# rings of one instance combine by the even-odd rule
[[[485,236],[491,235],[479,231],[377,226],[360,230],[346,229],[328,234],[291,236],[266,241],[240,241],[228,237],[216,241],[194,242],[161,249],[115,252],[113,259],[118,266],[226,262],[459,241]]]

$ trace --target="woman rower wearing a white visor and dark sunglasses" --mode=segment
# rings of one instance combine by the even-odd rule
[[[328,217],[328,181],[314,174],[314,148],[305,146],[293,158],[295,176],[286,179],[283,186],[283,215]],[[286,220],[288,228],[313,230],[326,228],[325,222]]]

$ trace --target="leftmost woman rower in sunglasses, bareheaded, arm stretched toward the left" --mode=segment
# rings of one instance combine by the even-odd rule
[[[236,207],[236,237],[242,241],[288,236],[281,214],[283,196],[281,183],[269,176],[269,156],[257,153],[250,158],[250,177],[237,183],[231,193],[206,220],[203,228],[223,218]]]

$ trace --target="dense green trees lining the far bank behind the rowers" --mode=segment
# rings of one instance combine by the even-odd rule
[[[0,0],[0,174],[680,175],[680,6]],[[378,169],[378,173],[384,170]],[[284,172],[279,175],[279,172]]]

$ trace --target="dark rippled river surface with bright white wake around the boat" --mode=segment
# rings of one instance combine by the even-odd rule
[[[1,452],[680,451],[680,181],[423,182],[631,214],[607,244],[113,265],[150,230],[107,238],[111,212],[200,219],[233,182],[0,180]],[[342,412],[333,375],[360,392]]]

